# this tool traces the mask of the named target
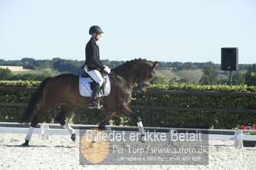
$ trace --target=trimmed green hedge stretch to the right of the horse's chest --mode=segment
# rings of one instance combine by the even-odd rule
[[[255,92],[255,86],[200,86],[194,84],[156,85],[149,89],[176,91],[237,91]],[[225,109],[256,109],[256,97],[201,96],[201,95],[133,95],[134,105],[170,107],[212,107]],[[232,112],[140,111],[144,124],[159,127],[235,128],[237,124],[256,122],[255,114]],[[131,125],[127,121],[125,125]]]

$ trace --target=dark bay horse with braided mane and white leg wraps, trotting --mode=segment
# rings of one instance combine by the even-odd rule
[[[111,92],[107,97],[104,97],[106,114],[102,121],[100,121],[100,130],[106,127],[106,124],[116,112],[122,112],[127,116],[131,116],[138,122],[141,141],[145,141],[145,131],[141,123],[141,118],[137,116],[128,105],[131,102],[134,82],[138,83],[139,91],[145,93],[147,86],[155,75],[157,63],[157,61],[151,63],[145,59],[134,59],[111,70],[109,74]],[[20,122],[24,123],[29,121],[40,97],[44,98],[43,106],[40,111],[33,116],[28,134],[25,138],[26,141],[22,145],[26,146],[29,144],[29,140],[31,139],[36,125],[42,121],[47,113],[58,106],[61,106],[61,111],[54,120],[66,128],[71,134],[71,139],[75,141],[75,130],[65,123],[65,118],[67,118],[76,107],[88,109],[88,102],[90,100],[90,97],[82,97],[79,93],[79,76],[65,73],[44,79],[31,95],[28,107]]]

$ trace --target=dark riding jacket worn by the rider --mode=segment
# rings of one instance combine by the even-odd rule
[[[84,65],[88,66],[88,70],[104,70],[105,66],[100,63],[100,52],[99,47],[95,40],[91,38],[91,40],[86,44],[85,47],[85,63]]]

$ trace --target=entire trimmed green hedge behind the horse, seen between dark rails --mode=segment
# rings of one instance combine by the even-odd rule
[[[0,81],[0,86],[36,87],[38,81]],[[237,91],[255,92],[256,86],[198,86],[193,84],[154,85],[148,89],[177,91]],[[28,102],[31,91],[0,91],[0,102]],[[131,105],[157,105],[170,107],[212,107],[227,109],[256,109],[256,97],[196,96],[196,95],[132,95]],[[24,107],[1,107],[0,121],[17,121]],[[60,109],[58,109],[59,111]],[[57,112],[51,112],[44,121],[52,122]],[[190,128],[235,128],[237,124],[256,123],[255,114],[232,112],[191,112],[191,111],[136,111],[145,126],[190,127]],[[104,112],[77,108],[68,118],[76,124],[97,124]],[[117,113],[111,120],[113,125],[136,125],[131,118]]]

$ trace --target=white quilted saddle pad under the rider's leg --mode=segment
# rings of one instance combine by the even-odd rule
[[[99,97],[108,96],[111,90],[108,74],[104,74],[103,80],[103,88],[100,89]],[[81,96],[92,97],[92,89],[90,87],[90,82],[93,82],[93,80],[90,77],[79,77],[79,91]]]

